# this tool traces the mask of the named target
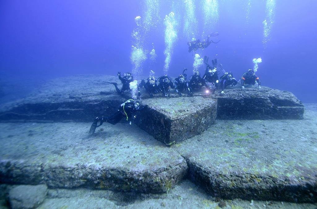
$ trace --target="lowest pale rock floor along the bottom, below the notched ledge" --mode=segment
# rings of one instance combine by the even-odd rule
[[[0,208],[8,208],[3,200]],[[49,189],[42,208],[287,208],[315,209],[316,204],[281,201],[223,200],[206,194],[194,183],[185,180],[164,194],[119,193],[109,190]]]

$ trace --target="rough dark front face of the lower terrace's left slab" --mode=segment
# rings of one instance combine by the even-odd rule
[[[167,192],[188,173],[180,158],[154,170],[126,170],[94,165],[63,166],[29,164],[21,160],[0,161],[0,183],[47,184],[49,188],[97,188],[141,193]]]

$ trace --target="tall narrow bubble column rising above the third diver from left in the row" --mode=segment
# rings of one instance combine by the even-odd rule
[[[171,12],[169,15],[166,15],[164,18],[165,25],[165,64],[164,64],[164,73],[167,73],[171,57],[173,54],[173,49],[177,39],[177,21],[175,20],[174,12]]]

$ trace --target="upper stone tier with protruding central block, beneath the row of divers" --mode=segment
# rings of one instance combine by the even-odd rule
[[[131,94],[118,95],[112,84],[116,76],[78,75],[44,84],[24,99],[0,107],[3,122],[92,122],[96,116],[110,116]],[[286,91],[262,87],[231,87],[225,95],[206,94],[203,88],[194,97],[171,98],[157,94],[149,98],[136,120],[140,128],[165,144],[178,143],[202,133],[215,119],[302,119],[304,106]]]

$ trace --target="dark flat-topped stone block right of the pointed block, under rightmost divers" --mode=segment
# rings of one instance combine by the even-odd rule
[[[224,96],[217,92],[215,98],[218,119],[303,119],[304,105],[287,91],[238,86],[226,89]]]

